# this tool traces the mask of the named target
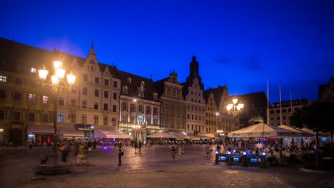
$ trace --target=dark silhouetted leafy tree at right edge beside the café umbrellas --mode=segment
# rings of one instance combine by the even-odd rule
[[[333,148],[333,126],[334,126],[334,103],[319,103],[299,108],[292,115],[290,115],[290,125],[298,128],[307,127],[315,132],[316,143],[316,157],[315,165],[318,168],[318,148],[319,148],[319,132],[331,132],[331,148]]]

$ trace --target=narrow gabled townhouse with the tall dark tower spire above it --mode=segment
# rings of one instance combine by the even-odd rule
[[[197,134],[206,132],[206,101],[203,98],[204,85],[199,75],[196,57],[190,63],[190,75],[183,85],[183,98],[186,100],[186,132]]]

